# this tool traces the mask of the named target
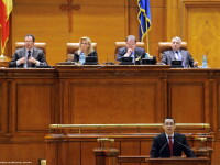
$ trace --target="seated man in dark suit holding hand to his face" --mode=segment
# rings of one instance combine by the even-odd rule
[[[145,50],[136,47],[136,37],[134,35],[129,35],[125,42],[125,47],[119,48],[117,53],[117,61],[121,62],[122,57],[133,57],[134,64],[141,64],[141,59],[145,56]]]

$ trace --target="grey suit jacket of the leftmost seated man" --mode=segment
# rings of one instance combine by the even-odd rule
[[[16,66],[16,61],[25,56],[25,47],[15,50],[13,54],[13,58],[11,62],[9,62],[9,67],[23,67],[23,64]],[[32,57],[34,57],[36,61],[40,62],[40,65],[47,65],[44,53],[42,50],[33,47],[33,54]],[[35,67],[35,64],[32,63],[31,67]]]

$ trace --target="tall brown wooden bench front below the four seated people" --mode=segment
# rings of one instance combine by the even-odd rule
[[[168,66],[57,66],[52,69],[0,68],[0,161],[46,157],[48,124],[210,123],[220,148],[220,69]],[[28,107],[31,103],[31,107]],[[136,130],[135,130],[136,131]],[[140,129],[139,133],[162,130]],[[206,129],[185,129],[205,133]],[[77,133],[68,130],[67,133]],[[81,130],[81,133],[118,130]],[[121,133],[134,133],[121,129]],[[207,144],[208,142],[204,142]],[[24,145],[25,144],[25,145]],[[74,147],[92,147],[95,143]],[[150,142],[123,142],[123,155],[148,154]],[[95,144],[96,146],[97,144]],[[208,145],[208,144],[207,144]],[[134,146],[135,150],[127,150]],[[11,147],[16,154],[11,154]],[[144,148],[144,150],[143,150]],[[19,153],[19,154],[18,154]],[[86,154],[86,153],[85,153]],[[26,155],[30,158],[26,157]],[[219,155],[218,151],[215,153]],[[218,158],[215,158],[218,163]],[[220,158],[219,158],[220,162]],[[85,165],[85,162],[81,162]]]

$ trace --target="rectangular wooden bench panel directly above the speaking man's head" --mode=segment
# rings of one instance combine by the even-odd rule
[[[178,122],[202,123],[205,117],[205,86],[195,82],[168,85],[170,116]],[[195,116],[197,118],[195,119]]]

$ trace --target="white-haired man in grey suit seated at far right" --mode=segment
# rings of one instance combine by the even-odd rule
[[[198,62],[194,61],[189,52],[182,50],[182,38],[178,36],[172,38],[172,48],[163,52],[161,62],[166,65],[172,65],[172,61],[182,61],[182,65],[185,68],[198,66]]]

